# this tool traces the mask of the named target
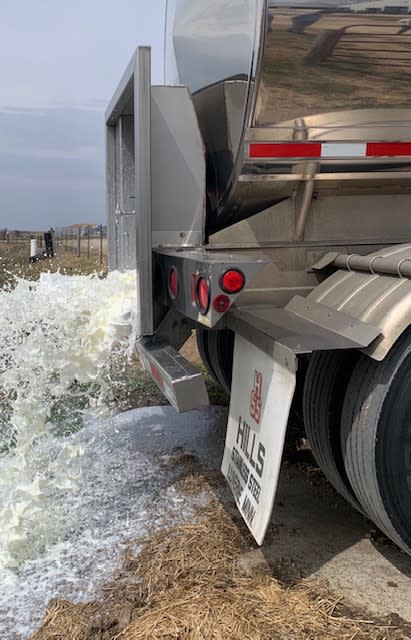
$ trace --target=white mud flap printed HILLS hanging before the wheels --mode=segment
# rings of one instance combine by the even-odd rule
[[[271,341],[262,351],[236,335],[230,413],[221,470],[256,542],[271,518],[297,358]]]

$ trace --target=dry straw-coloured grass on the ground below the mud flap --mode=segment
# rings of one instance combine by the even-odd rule
[[[190,462],[189,468],[192,467]],[[155,533],[128,557],[101,600],[50,603],[32,640],[374,640],[409,637],[389,621],[361,619],[302,581],[285,587],[268,565],[240,570],[250,539],[212,496],[214,479],[189,473],[188,493],[207,491],[197,522]],[[243,564],[243,563],[242,563]]]

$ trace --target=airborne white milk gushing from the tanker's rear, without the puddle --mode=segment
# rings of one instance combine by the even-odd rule
[[[43,274],[0,291],[2,580],[47,548],[48,498],[78,483],[83,450],[70,438],[61,444],[59,423],[67,402],[85,414],[104,410],[112,349],[131,352],[135,341],[135,291],[132,272]]]

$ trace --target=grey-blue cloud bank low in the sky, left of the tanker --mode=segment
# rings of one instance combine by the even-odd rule
[[[0,227],[105,222],[103,112],[0,110]]]

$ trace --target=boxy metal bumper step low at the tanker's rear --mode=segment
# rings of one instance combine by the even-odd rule
[[[203,375],[164,338],[143,338],[135,351],[144,369],[179,413],[209,404]]]

